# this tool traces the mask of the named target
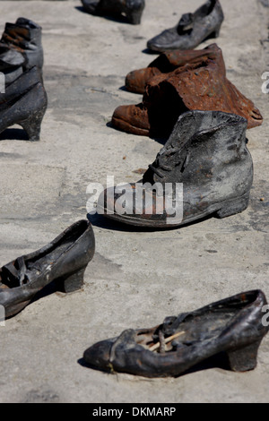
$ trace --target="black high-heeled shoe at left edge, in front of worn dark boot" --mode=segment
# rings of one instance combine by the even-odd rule
[[[20,85],[22,85],[21,88],[25,88],[29,82],[26,83],[23,78],[22,83],[18,81],[16,86],[11,85],[2,99],[0,96],[0,133],[11,125],[21,125],[28,134],[29,140],[37,142],[40,137],[41,122],[48,106],[48,98],[41,82],[16,95],[16,89],[20,88]]]

